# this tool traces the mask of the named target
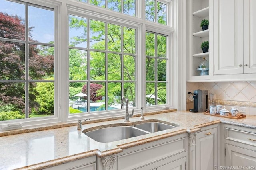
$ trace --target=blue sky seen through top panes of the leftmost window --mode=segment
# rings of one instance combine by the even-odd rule
[[[25,4],[0,0],[0,12],[25,19]],[[54,11],[28,6],[29,27],[32,38],[42,43],[54,41]]]

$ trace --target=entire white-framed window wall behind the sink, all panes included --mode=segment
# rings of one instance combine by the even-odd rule
[[[0,0],[0,124],[122,116],[122,97],[135,114],[173,107],[173,1],[155,3],[164,24],[146,1],[94,2]]]

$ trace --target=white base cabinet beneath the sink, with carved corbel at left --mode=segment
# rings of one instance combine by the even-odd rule
[[[97,170],[185,170],[186,136],[181,134],[124,149],[116,155],[97,157]]]

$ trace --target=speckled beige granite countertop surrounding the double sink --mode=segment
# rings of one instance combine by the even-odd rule
[[[139,117],[130,118],[129,123],[124,123],[123,119],[118,119],[84,124],[82,125],[82,130],[77,130],[76,125],[73,125],[2,136],[0,137],[0,170],[16,168],[42,169],[90,156],[105,157],[136,145],[142,145],[182,133],[194,133],[200,131],[201,127],[216,123],[227,123],[256,129],[256,116],[250,115],[236,120],[204,115],[203,113],[173,111],[146,115],[144,117],[145,121],[157,119],[180,126],[110,143],[98,143],[84,135],[82,131],[88,128],[94,129],[94,127],[98,126],[107,127],[109,124],[116,123],[132,125],[141,121]]]

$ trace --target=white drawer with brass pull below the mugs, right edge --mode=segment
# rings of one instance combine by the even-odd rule
[[[225,139],[256,146],[256,133],[225,128]]]

